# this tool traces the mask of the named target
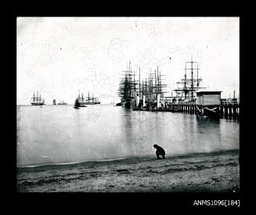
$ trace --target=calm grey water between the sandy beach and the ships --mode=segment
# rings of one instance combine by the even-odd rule
[[[17,167],[239,149],[238,120],[120,106],[17,106]]]

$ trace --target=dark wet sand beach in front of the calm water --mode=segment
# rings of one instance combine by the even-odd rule
[[[239,150],[17,168],[17,192],[239,192]]]

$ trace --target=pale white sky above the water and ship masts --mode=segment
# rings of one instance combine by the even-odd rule
[[[157,66],[166,96],[184,77],[185,63],[199,63],[204,91],[222,98],[240,90],[239,17],[18,17],[18,105],[38,91],[46,104],[73,104],[78,90],[102,103],[120,102],[122,71],[131,61],[141,79]]]

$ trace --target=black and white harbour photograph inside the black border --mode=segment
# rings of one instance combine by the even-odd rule
[[[16,17],[16,191],[239,193],[240,17]]]

